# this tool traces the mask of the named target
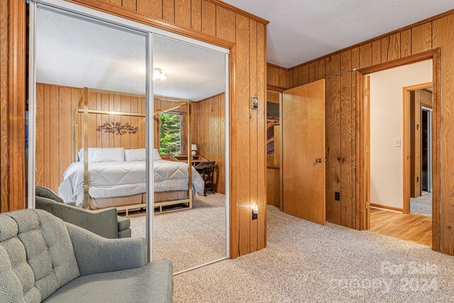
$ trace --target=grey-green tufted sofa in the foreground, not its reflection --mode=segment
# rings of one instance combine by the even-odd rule
[[[0,302],[172,302],[172,263],[40,209],[0,214]]]

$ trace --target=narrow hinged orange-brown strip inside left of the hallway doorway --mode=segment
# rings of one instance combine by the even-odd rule
[[[363,119],[362,119],[362,142],[364,144],[363,161],[363,201],[365,208],[364,226],[365,229],[370,229],[370,76],[364,77],[364,103],[363,103]]]

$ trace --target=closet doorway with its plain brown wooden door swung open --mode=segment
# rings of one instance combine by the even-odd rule
[[[267,94],[267,204],[326,224],[325,80]]]

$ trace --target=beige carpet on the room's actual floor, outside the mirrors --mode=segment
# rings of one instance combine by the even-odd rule
[[[267,210],[267,248],[177,275],[175,302],[454,302],[454,257]]]

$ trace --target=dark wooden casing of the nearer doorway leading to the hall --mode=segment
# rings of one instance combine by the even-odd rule
[[[423,53],[418,53],[416,55],[410,55],[397,60],[392,60],[389,62],[384,62],[379,65],[372,65],[370,67],[365,67],[358,69],[356,77],[356,87],[357,87],[357,123],[356,127],[356,138],[357,140],[357,167],[356,171],[356,190],[360,192],[358,197],[363,197],[362,193],[364,192],[365,184],[362,182],[358,183],[358,180],[362,180],[364,175],[364,164],[362,159],[364,158],[364,143],[362,142],[363,131],[360,126],[362,126],[362,121],[364,119],[363,113],[363,102],[364,102],[364,89],[361,87],[365,81],[365,75],[372,72],[378,72],[380,70],[387,70],[392,67],[398,67],[402,65],[408,65],[411,63],[421,62],[423,60],[433,60],[433,120],[432,120],[432,250],[441,251],[441,213],[440,213],[440,198],[441,198],[441,49],[434,48],[433,50],[427,50]],[[362,222],[364,220],[365,214],[365,201],[363,198],[357,199],[357,209],[356,216],[357,221]],[[359,226],[360,230],[366,229],[366,226]]]

